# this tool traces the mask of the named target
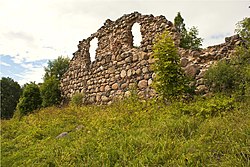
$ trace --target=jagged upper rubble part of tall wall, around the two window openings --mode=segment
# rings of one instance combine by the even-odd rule
[[[173,24],[164,16],[154,17],[153,15],[142,15],[134,12],[125,14],[116,21],[107,19],[97,32],[91,34],[87,39],[79,41],[78,50],[73,54],[74,57],[72,60],[78,62],[74,66],[88,68],[91,64],[93,66],[96,62],[102,61],[103,58],[110,55],[117,56],[124,51],[132,49],[134,46],[131,29],[135,23],[140,25],[142,36],[141,45],[138,49],[144,52],[152,51],[154,37],[165,29],[169,29],[177,36]],[[96,62],[91,62],[89,49],[90,42],[94,38],[98,39],[98,47],[96,49]],[[178,42],[177,38],[176,42]]]

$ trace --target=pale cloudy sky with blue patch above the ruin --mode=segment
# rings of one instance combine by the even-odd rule
[[[41,83],[49,60],[72,58],[78,42],[106,19],[134,11],[172,22],[181,12],[186,28],[198,28],[204,48],[220,44],[249,17],[249,6],[249,0],[0,0],[0,77]]]

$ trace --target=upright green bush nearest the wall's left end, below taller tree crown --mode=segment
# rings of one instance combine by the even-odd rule
[[[60,82],[55,76],[47,78],[42,84],[40,90],[42,95],[42,106],[48,107],[58,105],[61,102]]]

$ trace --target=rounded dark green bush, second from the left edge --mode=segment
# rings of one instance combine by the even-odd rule
[[[38,109],[42,104],[42,98],[38,85],[31,82],[24,87],[19,103],[17,104],[17,111],[20,116],[31,113]]]

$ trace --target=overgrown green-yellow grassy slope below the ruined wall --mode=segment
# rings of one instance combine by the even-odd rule
[[[2,120],[1,166],[250,166],[249,108],[220,96],[50,107]]]

